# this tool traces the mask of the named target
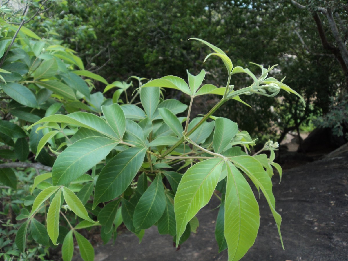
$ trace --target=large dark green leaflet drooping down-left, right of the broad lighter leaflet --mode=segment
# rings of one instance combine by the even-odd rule
[[[93,209],[98,203],[112,200],[126,190],[139,171],[145,152],[146,148],[131,147],[108,161],[95,185]]]

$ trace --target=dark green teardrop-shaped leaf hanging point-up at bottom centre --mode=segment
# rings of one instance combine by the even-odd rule
[[[148,229],[163,215],[166,199],[161,174],[158,174],[139,199],[134,209],[133,224],[137,229]]]

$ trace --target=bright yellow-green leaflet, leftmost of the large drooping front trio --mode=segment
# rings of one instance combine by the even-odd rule
[[[187,223],[199,209],[208,204],[212,197],[219,181],[223,162],[221,158],[201,161],[190,167],[182,176],[174,198],[176,247],[179,245]]]

